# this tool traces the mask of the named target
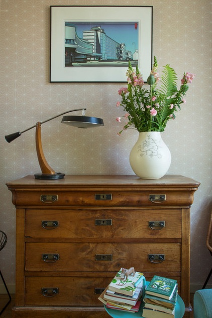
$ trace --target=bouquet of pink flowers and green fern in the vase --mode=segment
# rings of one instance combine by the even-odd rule
[[[178,89],[174,69],[167,64],[160,79],[157,68],[157,59],[154,57],[153,68],[147,79],[147,84],[150,85],[148,90],[138,67],[134,70],[129,61],[126,74],[128,86],[122,87],[118,91],[122,101],[118,101],[117,106],[123,106],[127,112],[124,116],[125,125],[119,134],[130,127],[136,128],[139,132],[162,132],[168,120],[175,118],[175,112],[180,110],[180,105],[186,103],[183,97],[188,90],[188,83],[192,82],[194,75],[184,73]],[[159,83],[160,85],[158,85]],[[121,122],[121,117],[117,117],[116,120]]]

